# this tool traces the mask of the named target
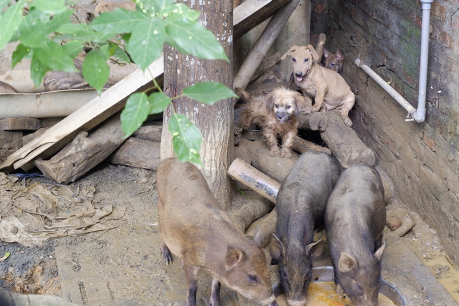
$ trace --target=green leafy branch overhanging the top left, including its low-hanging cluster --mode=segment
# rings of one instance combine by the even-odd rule
[[[133,0],[134,1],[134,0]],[[31,79],[39,86],[51,70],[77,72],[73,61],[81,51],[86,56],[81,74],[101,93],[108,81],[108,61],[134,62],[140,69],[162,56],[163,45],[198,58],[229,61],[225,50],[211,31],[199,24],[199,12],[174,0],[136,0],[136,10],[102,13],[90,23],[71,22],[74,4],[65,0],[0,0],[0,49],[19,41],[12,56],[14,67],[23,58],[31,58]],[[12,68],[13,68],[12,67]],[[136,92],[121,113],[125,137],[138,129],[148,115],[172,106],[173,99],[189,97],[204,104],[236,97],[221,83],[203,82],[188,87],[177,97],[166,96],[154,80],[155,92]],[[200,161],[201,134],[184,115],[172,107],[169,130],[177,157],[182,161]]]

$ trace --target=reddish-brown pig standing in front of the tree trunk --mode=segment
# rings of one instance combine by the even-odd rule
[[[213,306],[220,305],[220,282],[260,305],[277,305],[268,262],[259,245],[261,232],[254,240],[245,236],[220,208],[192,163],[164,159],[156,175],[161,252],[166,264],[172,262],[172,254],[182,258],[186,305],[196,305],[200,268],[214,277]]]

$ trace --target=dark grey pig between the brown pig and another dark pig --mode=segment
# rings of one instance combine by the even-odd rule
[[[289,305],[305,305],[312,257],[322,246],[314,229],[323,225],[325,204],[341,167],[326,153],[306,152],[296,161],[277,193],[277,223],[269,250],[279,264],[280,285]]]

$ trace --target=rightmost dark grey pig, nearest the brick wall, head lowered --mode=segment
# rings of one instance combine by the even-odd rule
[[[348,168],[328,199],[325,230],[337,293],[357,306],[378,305],[385,222],[378,172],[364,165]]]

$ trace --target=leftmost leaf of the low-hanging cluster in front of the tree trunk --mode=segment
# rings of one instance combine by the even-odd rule
[[[135,92],[129,96],[121,112],[121,129],[124,132],[124,139],[131,136],[147,120],[149,108],[145,92]]]

